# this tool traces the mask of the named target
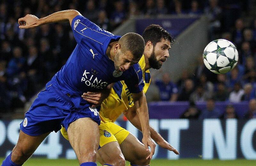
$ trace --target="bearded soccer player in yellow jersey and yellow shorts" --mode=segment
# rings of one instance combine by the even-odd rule
[[[144,93],[150,84],[150,68],[160,69],[169,57],[169,49],[173,43],[170,34],[159,25],[149,25],[142,34],[145,40],[144,55],[139,61],[143,71]],[[107,94],[108,95],[108,94]],[[95,105],[103,101],[104,93],[88,92],[82,96]],[[134,109],[132,95],[123,81],[117,82],[110,90],[109,96],[102,102],[100,109],[100,147],[97,152],[97,161],[102,165],[109,163],[113,166],[125,166],[125,160],[131,166],[148,166],[149,151],[129,131],[116,125],[114,121],[122,114],[141,131],[140,119]],[[68,139],[65,128],[61,129],[63,136]],[[150,126],[151,137],[162,148],[179,152]],[[108,165],[108,164],[105,164]]]

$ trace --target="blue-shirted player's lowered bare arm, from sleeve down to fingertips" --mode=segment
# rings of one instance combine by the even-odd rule
[[[140,93],[132,93],[132,97],[134,108],[140,119],[141,130],[143,134],[142,143],[145,145],[147,151],[149,151],[148,146],[151,148],[150,155],[147,157],[147,159],[152,159],[152,156],[155,153],[156,144],[150,137],[148,105],[146,96],[143,91],[141,91]]]

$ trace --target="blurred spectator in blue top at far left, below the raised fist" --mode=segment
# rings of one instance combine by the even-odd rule
[[[9,61],[6,69],[7,76],[18,75],[25,65],[26,59],[22,56],[22,49],[15,47],[12,51],[13,58]]]

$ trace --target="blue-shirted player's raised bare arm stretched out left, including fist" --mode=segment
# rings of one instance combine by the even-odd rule
[[[19,18],[19,28],[20,29],[28,29],[28,28],[35,28],[40,25],[45,25],[49,23],[55,22],[68,22],[71,25],[72,19],[75,18],[77,15],[81,15],[76,10],[65,10],[65,11],[58,11],[49,16],[44,18],[37,18],[35,15],[27,14],[23,18]]]

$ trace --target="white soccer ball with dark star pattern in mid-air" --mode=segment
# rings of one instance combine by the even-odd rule
[[[230,41],[218,39],[213,40],[204,48],[203,58],[207,69],[216,74],[223,74],[235,68],[238,52]]]

